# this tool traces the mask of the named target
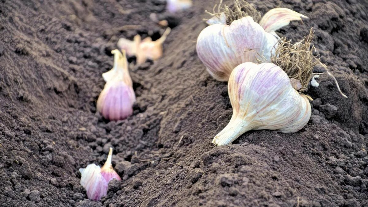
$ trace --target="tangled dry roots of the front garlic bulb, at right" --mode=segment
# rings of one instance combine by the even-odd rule
[[[271,55],[271,63],[282,68],[289,78],[294,78],[301,83],[299,92],[307,90],[309,81],[313,77],[313,68],[318,64],[319,59],[313,55],[315,47],[311,46],[314,31],[309,31],[309,35],[302,41],[291,44],[291,40],[281,38],[275,53]]]

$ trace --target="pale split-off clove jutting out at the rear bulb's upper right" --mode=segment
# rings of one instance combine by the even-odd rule
[[[288,8],[273,8],[262,17],[259,24],[266,32],[274,32],[289,25],[290,21],[301,21],[302,18],[308,17]]]

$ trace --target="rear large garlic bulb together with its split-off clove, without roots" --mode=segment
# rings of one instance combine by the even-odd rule
[[[307,18],[287,8],[274,8],[259,24],[247,16],[226,25],[225,14],[217,13],[198,36],[198,57],[216,80],[227,81],[241,63],[257,62],[257,58],[269,62],[279,40],[275,30],[302,17]]]

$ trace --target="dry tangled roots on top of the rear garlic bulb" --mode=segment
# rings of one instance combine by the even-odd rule
[[[213,13],[209,13],[210,15],[220,15],[220,13],[224,13],[226,16],[226,24],[230,25],[231,22],[238,20],[243,17],[252,17],[253,20],[258,23],[261,21],[261,13],[256,10],[256,8],[244,0],[234,0],[234,5],[229,7],[224,4],[223,7],[221,7],[222,0],[220,0],[219,6],[217,8],[217,11],[215,11],[215,8],[217,5],[213,7]]]

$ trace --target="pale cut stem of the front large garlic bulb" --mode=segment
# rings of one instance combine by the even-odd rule
[[[228,145],[249,130],[252,130],[252,127],[248,122],[232,117],[227,126],[213,138],[212,143],[217,146]]]

